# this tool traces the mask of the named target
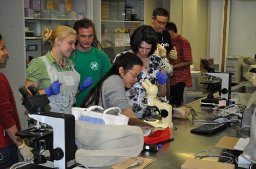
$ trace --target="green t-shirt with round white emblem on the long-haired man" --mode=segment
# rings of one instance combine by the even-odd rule
[[[96,85],[96,83],[103,77],[111,68],[108,55],[103,51],[92,46],[88,52],[81,52],[76,49],[76,57],[74,59],[74,52],[70,59],[75,63],[75,70],[81,75],[80,85],[87,78],[91,77],[93,84],[85,91],[76,96],[77,107],[89,91]]]

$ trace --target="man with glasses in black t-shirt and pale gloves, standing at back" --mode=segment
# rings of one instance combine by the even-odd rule
[[[174,61],[177,59],[177,51],[176,48],[172,45],[172,41],[170,39],[170,35],[167,31],[165,31],[165,25],[169,18],[169,12],[163,8],[156,8],[153,11],[152,16],[152,26],[157,33],[158,37],[158,51],[156,54],[159,53],[160,57],[163,58],[165,73],[168,77],[173,75],[173,67],[169,64],[169,62]],[[162,47],[166,49],[166,54],[164,54],[164,50]],[[170,98],[170,87],[169,87],[169,80],[166,81],[166,98],[169,100]]]

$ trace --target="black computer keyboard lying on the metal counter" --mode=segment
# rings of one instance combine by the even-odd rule
[[[190,130],[190,133],[202,133],[211,135],[217,131],[220,131],[226,127],[227,123],[219,123],[219,124],[205,124],[200,127],[194,128]]]

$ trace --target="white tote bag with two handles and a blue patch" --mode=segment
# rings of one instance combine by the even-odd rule
[[[86,116],[89,119],[86,121],[92,123],[127,125],[129,121],[128,117],[121,115],[119,107],[111,107],[105,110],[100,106],[91,106],[89,108],[72,107],[71,113],[75,116],[75,120],[78,120],[81,116]]]

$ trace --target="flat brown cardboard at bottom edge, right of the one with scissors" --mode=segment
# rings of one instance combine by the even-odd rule
[[[184,164],[181,165],[181,169],[234,169],[234,164],[228,164],[223,162],[200,160],[196,158],[188,158]]]

